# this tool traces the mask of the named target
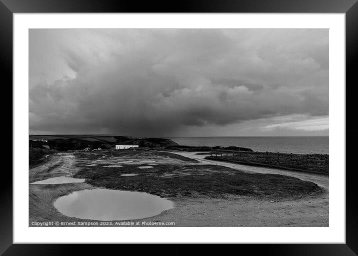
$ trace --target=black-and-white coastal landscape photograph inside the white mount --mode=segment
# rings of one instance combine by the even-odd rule
[[[29,28],[28,227],[329,227],[328,51],[328,28]]]

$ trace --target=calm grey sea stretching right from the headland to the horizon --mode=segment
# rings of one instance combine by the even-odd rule
[[[328,154],[328,136],[168,137],[179,145],[241,146],[253,151]]]

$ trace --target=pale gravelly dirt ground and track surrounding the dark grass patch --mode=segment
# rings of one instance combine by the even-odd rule
[[[141,164],[143,166],[150,166],[149,164],[221,165],[247,173],[273,173],[292,176],[314,182],[323,189],[310,193],[300,199],[279,201],[237,194],[226,194],[225,198],[212,198],[207,195],[169,197],[168,199],[172,200],[175,204],[174,208],[163,211],[153,217],[133,221],[174,222],[174,226],[328,226],[329,190],[327,175],[245,166],[222,161],[215,162],[203,159],[205,155],[198,155],[196,154],[197,152],[175,153],[177,156],[172,156],[170,153],[156,155],[154,163],[140,163],[143,160],[153,159],[153,155],[150,155],[150,152],[147,153],[147,157],[144,155],[140,159],[135,157],[136,152],[125,157],[115,158],[116,156],[114,156],[113,158],[112,156],[106,158],[104,156],[102,159],[95,158],[94,154],[97,153],[92,152],[57,153],[49,156],[51,157],[49,161],[29,170],[29,182],[61,175],[75,176],[79,171],[90,170],[100,164],[102,166],[115,164],[120,164],[121,166],[133,164]],[[186,157],[189,157],[190,160]],[[132,159],[132,162],[126,162],[131,161],[130,159]],[[151,166],[155,167],[155,165]],[[106,168],[110,169],[110,167]],[[138,170],[140,169],[138,168]],[[59,196],[87,188],[95,188],[95,186],[86,182],[29,184],[29,225],[36,225],[36,222],[40,221],[93,221],[64,216],[53,206],[54,200]],[[75,225],[78,226],[78,224]],[[109,226],[115,225],[113,223]]]

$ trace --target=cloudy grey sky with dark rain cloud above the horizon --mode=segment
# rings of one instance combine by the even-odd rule
[[[328,29],[30,29],[29,133],[328,135]]]

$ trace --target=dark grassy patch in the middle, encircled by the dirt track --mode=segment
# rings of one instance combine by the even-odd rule
[[[76,158],[81,158],[82,154],[75,155]],[[119,163],[111,160],[118,156],[121,157]],[[155,160],[154,164],[157,165],[136,161],[121,163],[126,159],[134,158]],[[165,162],[165,159],[181,162],[170,163]],[[86,182],[93,186],[143,191],[162,197],[225,198],[227,195],[234,194],[271,200],[287,200],[301,198],[319,189],[317,184],[295,177],[246,173],[225,166],[193,164],[194,162],[195,160],[191,158],[158,151],[92,153],[86,154],[86,159],[76,163],[80,170],[74,177],[85,178]],[[121,167],[107,167],[110,166],[108,163],[120,164]],[[150,167],[139,168],[140,166]],[[137,175],[121,176],[127,173]]]

